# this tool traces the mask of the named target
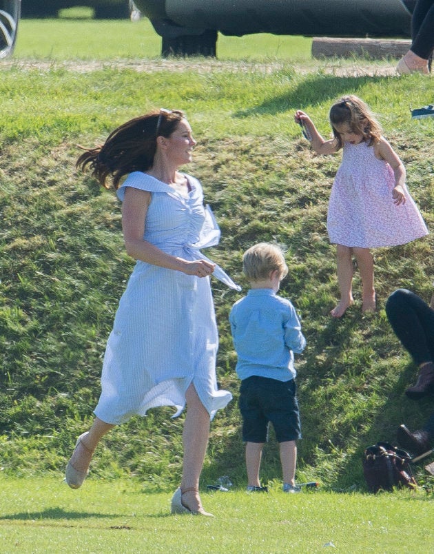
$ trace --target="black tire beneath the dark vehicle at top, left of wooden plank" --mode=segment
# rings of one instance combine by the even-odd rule
[[[161,55],[168,56],[206,56],[217,55],[217,31],[208,29],[203,34],[188,34],[174,39],[161,39]]]

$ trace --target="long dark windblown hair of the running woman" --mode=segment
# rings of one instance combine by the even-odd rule
[[[152,167],[156,152],[156,138],[169,137],[184,118],[180,110],[153,110],[130,119],[117,127],[103,145],[85,150],[76,161],[76,167],[84,171],[90,168],[92,176],[105,188],[119,187],[121,178],[131,172],[145,172]]]

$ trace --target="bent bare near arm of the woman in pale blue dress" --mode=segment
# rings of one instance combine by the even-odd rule
[[[122,230],[127,254],[152,265],[182,271],[187,275],[206,277],[214,271],[214,264],[206,260],[189,261],[166,254],[143,240],[147,209],[151,193],[126,187],[122,205]]]

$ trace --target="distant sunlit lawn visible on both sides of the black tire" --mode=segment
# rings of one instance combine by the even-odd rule
[[[66,10],[65,10],[66,11]],[[256,34],[245,37],[219,35],[218,58],[222,60],[291,59],[308,61],[312,40]],[[116,59],[156,58],[161,54],[161,37],[148,19],[23,19],[14,57],[17,59]]]

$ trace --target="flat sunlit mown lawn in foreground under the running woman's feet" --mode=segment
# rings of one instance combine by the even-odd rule
[[[1,479],[3,553],[413,552],[432,550],[432,500],[426,495],[332,492],[289,495],[279,489],[204,493],[215,518],[169,515],[170,495],[137,482]],[[405,525],[403,525],[405,522]]]

